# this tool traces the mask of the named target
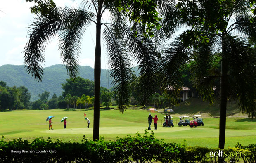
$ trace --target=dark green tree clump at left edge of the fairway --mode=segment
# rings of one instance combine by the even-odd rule
[[[8,87],[6,82],[0,81],[0,110],[28,109],[30,93],[24,86]]]

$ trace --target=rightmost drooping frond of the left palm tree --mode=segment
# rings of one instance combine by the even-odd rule
[[[123,40],[132,57],[137,61],[139,73],[140,95],[139,102],[145,105],[150,100],[150,96],[155,93],[157,86],[156,70],[157,54],[151,40],[145,39],[142,33],[138,32],[137,37],[133,35],[134,31],[123,28]]]

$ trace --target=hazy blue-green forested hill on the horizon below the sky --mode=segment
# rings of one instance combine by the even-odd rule
[[[107,73],[106,73],[107,72]],[[80,66],[80,76],[85,79],[94,80],[94,69],[90,66]],[[101,86],[112,87],[111,80],[108,78],[108,70],[101,69]],[[31,93],[31,101],[38,99],[38,94],[44,91],[50,92],[49,98],[55,93],[57,96],[62,94],[62,85],[69,76],[63,65],[57,64],[54,66],[46,67],[42,82],[38,82],[28,75],[23,65],[3,65],[0,66],[0,81],[7,83],[7,86],[17,87],[24,85]],[[109,82],[109,85],[107,84]]]

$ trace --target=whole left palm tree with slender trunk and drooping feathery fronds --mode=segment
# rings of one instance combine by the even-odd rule
[[[153,44],[144,35],[146,28],[148,33],[151,32],[152,24],[157,22],[158,13],[152,1],[141,2],[142,4],[130,0],[83,0],[79,9],[55,7],[50,10],[49,14],[38,15],[31,24],[28,43],[24,49],[24,64],[28,73],[38,81],[41,81],[43,76],[41,64],[45,61],[43,55],[45,43],[57,34],[60,38],[59,50],[63,63],[66,64],[69,76],[75,79],[79,71],[78,56],[82,35],[89,25],[95,24],[93,140],[99,138],[101,34],[104,35],[103,38],[108,48],[110,76],[114,78],[113,84],[116,84],[114,91],[120,112],[123,113],[130,101],[130,77],[132,75],[130,55],[137,61],[141,70],[140,101],[145,103],[154,92],[157,56],[154,53]],[[165,2],[156,1],[160,7],[159,11],[164,10]],[[120,6],[125,6],[126,9]],[[151,10],[154,12],[149,14]],[[102,23],[102,14],[106,11],[109,11],[111,21]],[[126,14],[127,12],[130,14]],[[145,21],[137,21],[138,18],[139,20],[145,19]],[[145,28],[148,22],[149,25]],[[102,27],[104,27],[103,33],[101,33]]]

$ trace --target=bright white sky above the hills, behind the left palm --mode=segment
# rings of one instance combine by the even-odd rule
[[[54,2],[59,7],[77,7],[80,0],[54,0]],[[5,64],[23,65],[24,53],[22,51],[28,41],[28,27],[36,17],[30,12],[31,6],[33,3],[25,0],[0,0],[0,66]],[[103,19],[107,21],[107,14],[103,16]],[[95,25],[91,24],[84,33],[79,57],[81,66],[94,67],[95,31]],[[106,47],[102,43],[102,69],[108,68],[106,52]],[[47,44],[44,54],[43,67],[62,64],[57,37]]]

